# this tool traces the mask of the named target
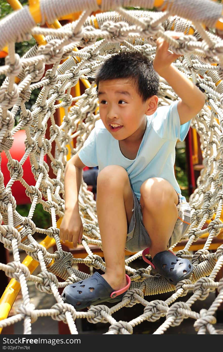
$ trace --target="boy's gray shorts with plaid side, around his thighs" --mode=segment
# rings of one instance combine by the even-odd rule
[[[126,250],[129,252],[139,252],[147,247],[150,247],[151,240],[143,225],[143,214],[141,212],[141,205],[137,196],[132,191],[134,197],[134,209],[132,219],[130,221],[126,239]],[[179,197],[179,195],[178,195]],[[187,202],[183,202],[179,197],[178,219],[176,221],[174,231],[170,237],[168,248],[179,242],[186,234],[191,225],[191,208]],[[157,209],[158,211],[158,209]],[[162,221],[162,219],[160,219]]]

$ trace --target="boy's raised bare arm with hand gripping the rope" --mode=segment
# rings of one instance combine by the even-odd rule
[[[179,38],[182,34],[179,32],[169,32],[169,35],[175,39]],[[180,117],[180,124],[183,125],[199,113],[204,106],[205,96],[173,65],[177,57],[179,55],[168,50],[168,43],[163,38],[157,39],[153,67],[180,97],[181,100],[177,104],[177,111]]]

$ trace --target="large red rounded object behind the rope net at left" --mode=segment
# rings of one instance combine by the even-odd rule
[[[25,154],[25,139],[26,134],[25,130],[20,130],[14,134],[13,145],[10,149],[10,154],[13,159],[20,161]],[[7,168],[8,159],[6,157],[5,152],[1,153],[1,172],[4,176],[4,184],[7,185],[10,180],[10,172]],[[46,155],[44,156],[44,161],[46,161]],[[30,185],[35,186],[36,181],[31,171],[30,159],[29,157],[26,159],[23,164],[23,179]],[[16,199],[17,204],[27,204],[31,203],[30,198],[25,194],[25,187],[20,183],[20,181],[15,181],[12,185],[12,195]]]

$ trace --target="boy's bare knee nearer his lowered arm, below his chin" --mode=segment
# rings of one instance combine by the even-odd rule
[[[128,180],[128,174],[122,166],[109,165],[102,169],[97,178],[97,188],[119,188]]]

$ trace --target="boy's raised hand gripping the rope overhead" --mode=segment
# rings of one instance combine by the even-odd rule
[[[184,33],[173,31],[167,31],[165,34],[174,39],[178,39],[185,35]],[[153,60],[153,68],[160,76],[163,76],[168,67],[170,67],[171,63],[173,63],[181,55],[174,54],[168,50],[169,44],[161,37],[157,38],[156,45],[156,56]]]

